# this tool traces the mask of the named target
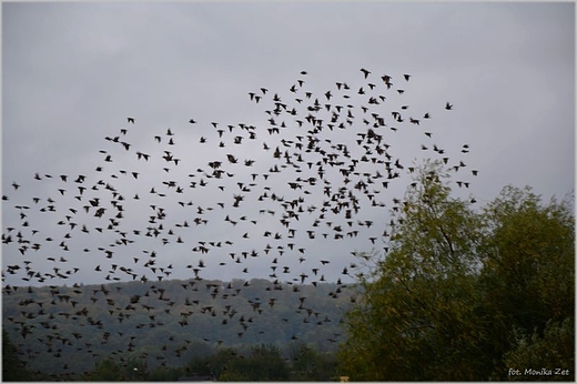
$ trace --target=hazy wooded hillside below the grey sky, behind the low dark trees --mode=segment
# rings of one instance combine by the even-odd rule
[[[354,296],[340,283],[255,279],[7,286],[2,299],[4,330],[27,367],[72,374],[108,357],[175,367],[262,344],[335,352]]]

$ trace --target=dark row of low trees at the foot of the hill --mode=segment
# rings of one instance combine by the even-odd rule
[[[3,381],[336,381],[334,352],[321,353],[304,342],[284,348],[273,344],[245,347],[205,347],[182,366],[149,367],[135,357],[120,361],[108,356],[95,362],[94,368],[82,373],[54,375],[29,370],[18,357],[10,337],[3,335]]]

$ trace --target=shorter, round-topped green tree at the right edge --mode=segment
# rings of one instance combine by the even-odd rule
[[[574,323],[575,222],[569,202],[551,199],[545,205],[529,188],[506,186],[484,210],[490,229],[480,275],[484,309],[493,319],[487,332],[493,348],[508,356],[496,364],[494,378],[507,378],[519,354],[527,364],[553,364],[553,354],[540,353],[538,346],[553,342],[555,330]],[[563,334],[567,340],[569,333]],[[566,354],[556,366],[573,368],[574,362],[574,354]]]

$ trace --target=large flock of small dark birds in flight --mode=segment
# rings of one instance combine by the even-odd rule
[[[393,79],[361,69],[355,85],[336,82],[316,94],[306,78],[302,71],[282,94],[266,88],[249,93],[264,109],[265,127],[190,119],[183,128],[143,137],[139,119],[129,117],[104,138],[107,148],[88,172],[39,172],[31,175],[38,185],[6,185],[3,294],[22,285],[31,294],[32,285],[80,287],[88,276],[102,283],[200,282],[213,271],[264,273],[272,292],[288,282],[298,295],[300,285],[327,281],[330,269],[340,274],[331,279],[340,291],[362,273],[356,259],[347,259],[356,252],[353,240],[387,251],[395,221],[385,212],[403,205],[389,188],[415,170],[395,155],[398,135],[417,132],[421,153],[460,172],[458,186],[468,188],[477,175],[463,159],[449,159],[431,130],[429,119],[453,104],[418,111],[403,103],[409,74]],[[466,154],[469,146],[458,151]],[[334,243],[341,254],[320,254]],[[105,299],[94,293],[94,300]],[[209,304],[198,303],[199,311]],[[21,305],[22,315],[11,322],[27,337],[33,334],[29,311],[45,311],[49,303]],[[129,310],[135,305],[143,304],[131,300]],[[112,307],[115,315],[128,311]]]

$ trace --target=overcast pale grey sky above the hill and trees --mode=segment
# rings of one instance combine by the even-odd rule
[[[361,68],[371,71],[367,79]],[[411,74],[408,82],[405,73]],[[415,115],[425,111],[432,115],[426,124],[423,120],[418,128],[407,123],[403,125],[406,129],[392,135],[391,152],[405,165],[432,153],[433,144],[446,149],[455,161],[463,159],[468,169],[478,170],[470,188],[459,192],[475,195],[479,203],[494,199],[506,184],[530,185],[546,200],[573,191],[573,3],[2,3],[2,193],[9,196],[2,204],[2,233],[8,234],[7,229],[13,226],[12,239],[21,231],[31,239],[30,245],[37,242],[42,246],[21,254],[18,244],[3,245],[3,271],[7,265],[23,265],[27,260],[41,274],[78,267],[69,281],[101,282],[107,275],[126,280],[129,276],[113,270],[112,264],[130,267],[140,276],[149,273],[142,265],[150,257],[146,252],[154,251],[159,254],[155,265],[172,264],[171,277],[192,276],[186,265],[196,266],[200,259],[209,264],[203,276],[266,277],[272,273],[271,260],[276,250],[265,255],[265,246],[286,249],[294,242],[293,251],[279,255],[276,272],[281,280],[302,273],[312,280],[311,271],[320,260],[331,261],[323,269],[327,280],[342,276],[343,266],[352,261],[351,251],[375,246],[367,238],[377,236],[382,226],[361,228],[367,233],[355,238],[322,241],[321,232],[340,224],[336,218],[333,228],[322,223],[318,239],[312,241],[306,236],[311,221],[303,219],[291,224],[298,234],[286,238],[286,228],[279,223],[280,203],[260,203],[255,198],[265,193],[266,186],[284,192],[286,200],[295,198],[300,191],[291,190],[287,181],[298,174],[283,170],[265,181],[262,174],[274,162],[271,152],[263,150],[263,142],[272,146],[271,151],[277,145],[284,151],[280,140],[295,141],[306,131],[291,127],[276,137],[269,135],[271,115],[266,110],[273,105],[272,94],[277,93],[283,101],[292,100],[291,105],[301,108],[304,118],[307,111],[304,103],[295,103],[290,91],[293,84],[303,80],[303,90],[314,94],[311,101],[317,98],[324,103],[327,90],[337,93],[335,82],[346,82],[354,94],[350,102],[355,103],[357,123],[362,124],[356,91],[360,87],[368,91],[366,84],[373,82],[385,92],[383,74],[392,77],[394,89],[406,92],[387,91],[387,101],[374,107],[379,114],[389,117],[401,105],[411,105],[408,111],[415,111]],[[251,101],[249,92],[262,94],[261,88],[269,89],[262,103]],[[452,111],[445,110],[447,101],[454,105]],[[134,124],[128,122],[128,117],[134,118]],[[196,123],[189,123],[190,119]],[[220,139],[212,122],[225,130],[234,125],[231,138],[236,132],[247,137],[240,123],[254,125],[259,138],[245,138],[241,145],[227,141],[224,149],[217,148]],[[166,146],[169,128],[174,133],[172,146]],[[123,135],[121,129],[128,129],[128,133]],[[416,134],[411,129],[421,131]],[[428,152],[421,150],[427,139],[423,131],[433,132],[426,142]],[[320,138],[354,148],[356,132],[351,129],[335,132],[334,138]],[[161,137],[160,143],[155,135]],[[124,151],[105,137],[120,137],[131,148]],[[201,137],[207,139],[207,145],[199,144]],[[460,152],[463,144],[469,145],[469,153]],[[166,162],[162,159],[166,150],[181,160],[178,165],[171,163],[169,172],[163,170]],[[150,154],[150,162],[136,159],[136,151]],[[227,164],[229,153],[240,163],[255,160],[254,168]],[[112,162],[103,161],[107,154]],[[189,188],[192,181],[203,179],[203,172],[212,171],[207,163],[217,159],[224,159],[223,168],[234,176],[220,184],[211,180],[212,186],[204,190]],[[103,171],[97,172],[101,165]],[[131,172],[139,172],[139,179],[133,179]],[[40,180],[34,180],[36,173]],[[191,173],[195,175],[189,176]],[[250,186],[252,193],[235,211],[232,199],[242,193],[237,183],[250,183],[251,173],[259,174],[255,185]],[[60,180],[61,174],[69,175],[69,180]],[[84,184],[74,183],[80,174],[87,176]],[[165,209],[166,228],[184,221],[192,228],[179,226],[173,235],[162,233],[158,239],[129,235],[136,241],[114,246],[111,243],[121,235],[95,231],[102,221],[93,216],[94,209],[83,215],[83,205],[94,196],[100,196],[107,214],[114,212],[105,202],[110,190],[101,185],[100,191],[88,191],[82,200],[74,199],[78,185],[90,189],[100,180],[126,198],[119,231],[131,233],[139,229],[144,233],[151,225],[159,225],[146,222],[156,213],[151,204]],[[176,198],[164,181],[175,181],[186,192]],[[14,182],[20,185],[17,191]],[[168,196],[163,200],[151,195],[151,186]],[[396,188],[392,191],[402,195],[404,185]],[[65,190],[64,195],[59,189]],[[323,203],[318,195],[323,189],[312,190],[304,208]],[[142,198],[134,201],[134,194]],[[32,198],[40,202],[33,203]],[[39,211],[50,204],[48,198],[57,201],[57,212]],[[391,196],[378,200],[388,204]],[[182,206],[179,201],[193,205]],[[24,219],[14,209],[19,204],[30,206],[24,210]],[[71,213],[72,206],[78,213]],[[199,206],[205,212],[199,213]],[[277,211],[273,215],[261,210]],[[240,223],[225,222],[226,214]],[[387,222],[386,214],[386,209],[372,210],[365,204],[358,220]],[[247,220],[241,220],[243,215]],[[209,223],[193,224],[195,218]],[[60,220],[67,224],[57,225]],[[21,228],[23,221],[29,222],[28,228]],[[70,221],[79,225],[71,229]],[[89,233],[81,232],[82,224]],[[32,230],[39,232],[31,234]],[[267,230],[273,234],[282,232],[283,240],[265,239]],[[62,238],[67,233],[70,239]],[[175,243],[178,235],[182,235],[184,244]],[[163,244],[162,238],[169,242]],[[226,240],[233,245],[213,246],[206,254],[192,251],[200,242]],[[59,246],[61,241],[69,251]],[[298,247],[306,252],[297,252]],[[107,250],[113,250],[114,256],[105,257]],[[260,254],[252,263],[251,256],[244,263],[234,262],[243,251],[252,250]],[[301,256],[304,262],[298,261]],[[47,262],[47,257],[57,261]],[[60,262],[60,257],[68,262]],[[102,272],[94,272],[98,265]],[[286,276],[281,275],[284,266],[291,271]],[[244,267],[247,273],[242,272]],[[7,279],[21,283],[21,273]]]

